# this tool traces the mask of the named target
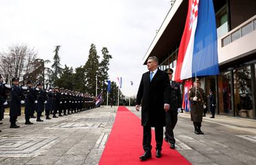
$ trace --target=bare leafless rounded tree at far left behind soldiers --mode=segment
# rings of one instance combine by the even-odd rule
[[[27,44],[14,44],[1,53],[0,73],[5,78],[22,78],[24,74],[32,71],[33,61],[37,53]]]

